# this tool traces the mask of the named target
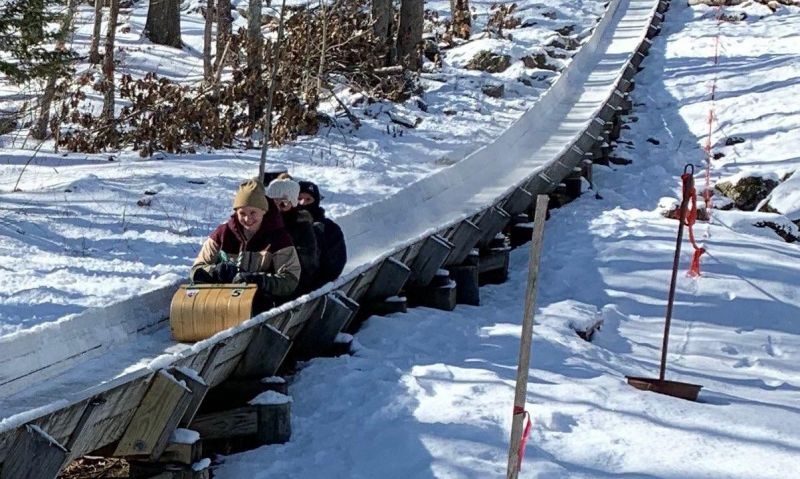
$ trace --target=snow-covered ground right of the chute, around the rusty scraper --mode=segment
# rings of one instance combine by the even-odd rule
[[[698,279],[684,274],[684,243],[667,378],[702,385],[699,401],[624,380],[658,375],[677,230],[658,205],[677,197],[687,162],[704,184],[711,80],[712,139],[725,154],[714,181],[783,176],[800,162],[800,11],[724,9],[738,11],[747,19],[718,25],[715,9],[673,3],[616,151],[633,163],[595,168],[600,197],[586,194],[547,223],[521,477],[796,474],[800,248],[752,226],[779,215],[714,211],[697,227],[708,249]],[[724,146],[729,136],[745,142]],[[800,207],[787,200],[796,190],[777,194],[786,214]],[[480,307],[370,318],[353,356],[315,359],[293,378],[292,440],[222,458],[215,477],[502,476],[527,260],[514,251],[509,282],[482,289]],[[570,329],[598,318],[592,343]]]

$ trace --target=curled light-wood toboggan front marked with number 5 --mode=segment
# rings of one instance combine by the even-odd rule
[[[172,297],[169,326],[180,342],[195,342],[253,316],[253,284],[187,284]]]

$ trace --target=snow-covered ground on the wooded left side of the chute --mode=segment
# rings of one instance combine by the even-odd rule
[[[157,72],[197,80],[202,72],[198,4],[184,4],[187,46],[181,51],[152,45],[142,36],[147,2],[137,2],[123,14],[120,22],[130,30],[119,32],[118,73],[136,77]],[[558,38],[558,28],[572,26],[573,36],[584,39],[604,8],[597,0],[517,4],[515,15],[526,26],[513,30],[513,41],[480,33],[490,4],[474,4],[473,40],[447,51],[443,68],[423,76],[427,111],[416,98],[399,105],[354,104],[360,129],[330,128],[301,138],[271,150],[270,163],[316,181],[335,218],[385,198],[496,138],[555,76],[526,68],[520,58],[543,51]],[[449,2],[427,2],[426,8],[444,17]],[[74,40],[78,48],[86,48],[90,39],[91,15],[88,5],[81,6]],[[244,25],[245,20],[236,15],[235,22]],[[490,74],[463,68],[483,49],[511,55],[509,69]],[[79,71],[85,68],[89,66],[81,65]],[[504,85],[505,96],[484,95],[481,87],[487,83]],[[0,94],[7,90],[0,82]],[[342,95],[354,102],[359,97],[357,92]],[[389,113],[421,122],[406,129],[392,123]],[[35,149],[26,133],[23,129],[0,137],[0,337],[184,277],[205,236],[230,214],[238,183],[258,171],[257,150],[159,154],[146,160],[124,151],[62,155],[52,153],[50,142]],[[15,186],[21,191],[13,192]]]

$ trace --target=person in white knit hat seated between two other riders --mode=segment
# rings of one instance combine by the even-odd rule
[[[266,194],[278,205],[283,224],[300,257],[300,283],[295,290],[295,296],[309,293],[313,289],[314,277],[319,269],[320,248],[314,233],[314,218],[308,211],[297,208],[300,184],[288,174],[283,174],[270,182]]]

